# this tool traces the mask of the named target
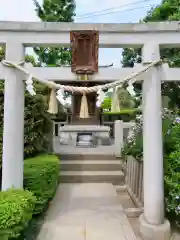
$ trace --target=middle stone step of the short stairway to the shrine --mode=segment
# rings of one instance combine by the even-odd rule
[[[61,160],[61,171],[118,171],[121,160]]]

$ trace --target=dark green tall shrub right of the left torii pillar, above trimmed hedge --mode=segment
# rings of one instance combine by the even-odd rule
[[[52,121],[48,109],[47,96],[41,84],[36,85],[36,95],[25,94],[24,114],[24,154],[35,156],[50,150],[52,141]]]

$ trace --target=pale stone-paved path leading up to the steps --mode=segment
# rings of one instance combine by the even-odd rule
[[[38,240],[136,240],[110,183],[60,184]]]

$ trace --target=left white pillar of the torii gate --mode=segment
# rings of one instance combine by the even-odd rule
[[[19,42],[6,44],[6,59],[24,59],[24,47]],[[4,131],[2,159],[2,190],[23,188],[24,160],[24,83],[23,75],[7,69],[4,89]]]

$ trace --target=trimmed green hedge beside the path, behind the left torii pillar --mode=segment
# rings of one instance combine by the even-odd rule
[[[36,196],[34,214],[44,211],[54,196],[59,180],[59,159],[54,155],[40,155],[24,162],[24,188]]]

